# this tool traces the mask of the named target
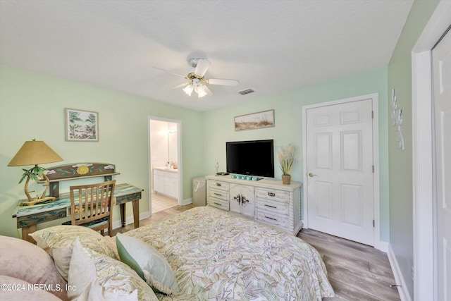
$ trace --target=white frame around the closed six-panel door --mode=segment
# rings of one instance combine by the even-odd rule
[[[322,106],[333,106],[335,104],[346,104],[350,102],[358,102],[359,100],[371,99],[373,105],[373,238],[374,247],[378,250],[387,252],[387,244],[381,243],[381,213],[380,213],[380,200],[379,200],[379,94],[366,94],[357,97],[350,97],[346,99],[333,100],[331,102],[322,102],[320,104],[311,104],[309,106],[302,106],[302,166],[304,166],[303,179],[304,179],[304,199],[302,201],[302,212],[304,228],[309,228],[309,216],[308,216],[308,203],[309,193],[307,183],[307,109],[321,108]]]

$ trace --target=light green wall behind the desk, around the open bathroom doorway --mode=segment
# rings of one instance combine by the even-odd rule
[[[65,108],[99,112],[99,142],[66,142]],[[23,142],[33,138],[46,142],[64,159],[44,167],[83,161],[116,164],[121,173],[118,183],[144,188],[140,212],[149,211],[147,116],[182,121],[183,198],[190,198],[191,179],[203,172],[202,113],[1,66],[0,234],[18,236],[11,216],[18,199],[25,198],[24,183],[18,184],[23,171],[7,165]]]

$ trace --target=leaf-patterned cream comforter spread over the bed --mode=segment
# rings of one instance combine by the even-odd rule
[[[321,300],[333,297],[319,253],[294,235],[212,207],[125,233],[156,247],[180,295],[160,300]]]

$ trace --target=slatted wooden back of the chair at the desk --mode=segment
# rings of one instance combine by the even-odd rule
[[[108,218],[109,222],[104,226],[92,226],[95,231],[108,228],[111,235],[111,202],[114,195],[116,180],[90,185],[70,186],[70,210],[73,225],[82,225]],[[102,231],[103,233],[103,231]]]

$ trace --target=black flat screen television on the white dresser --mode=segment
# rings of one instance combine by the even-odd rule
[[[226,142],[226,164],[228,173],[274,178],[274,142]]]

